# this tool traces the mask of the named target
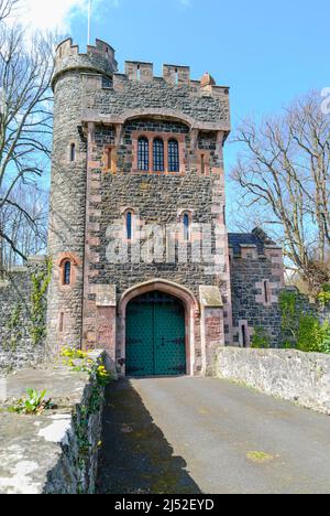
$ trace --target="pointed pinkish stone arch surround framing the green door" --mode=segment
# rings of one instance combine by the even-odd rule
[[[199,322],[199,302],[193,292],[185,287],[166,280],[152,280],[140,283],[127,290],[118,307],[118,344],[117,354],[121,356],[122,374],[125,375],[125,357],[127,357],[127,308],[130,301],[148,292],[164,292],[182,301],[185,309],[185,335],[186,335],[186,370],[188,375],[194,374],[195,364],[195,345],[196,345],[196,325]]]

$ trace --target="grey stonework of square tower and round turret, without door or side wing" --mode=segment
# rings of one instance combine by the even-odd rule
[[[217,86],[208,74],[191,80],[189,68],[179,65],[164,65],[163,77],[155,77],[152,64],[130,61],[120,74],[114,51],[107,43],[97,40],[96,46],[81,54],[66,40],[56,51],[53,89],[50,256],[54,270],[48,293],[48,356],[58,354],[63,344],[91,348],[101,342],[123,368],[124,327],[117,319],[116,303],[131,288],[157,279],[167,281],[166,288],[173,282],[173,288],[189,291],[189,303],[195,305],[194,311],[191,304],[187,307],[189,340],[195,344],[187,356],[190,370],[205,369],[200,342],[209,332],[212,342],[218,338],[219,345],[224,344],[222,318],[227,342],[231,341],[223,172],[223,144],[231,129],[229,88]],[[150,139],[150,149],[156,137],[165,142],[164,173],[153,173],[152,165],[145,173],[139,170],[141,133]],[[179,147],[176,173],[168,168],[170,138]],[[141,227],[156,224],[162,228],[183,227],[187,211],[191,225],[212,226],[208,251],[215,261],[197,259],[201,230],[189,243],[185,262],[177,254],[163,262],[138,264],[132,256],[129,261],[111,261],[114,226],[123,224],[128,208],[139,217]],[[178,243],[183,235],[176,238]],[[72,266],[68,283],[64,275],[67,261]],[[217,287],[223,301],[215,313],[206,311],[207,331],[200,329],[200,286]],[[100,307],[98,292],[107,289],[117,299]]]

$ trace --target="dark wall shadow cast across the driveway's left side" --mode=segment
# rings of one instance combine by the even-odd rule
[[[107,390],[99,494],[200,494],[130,380]]]

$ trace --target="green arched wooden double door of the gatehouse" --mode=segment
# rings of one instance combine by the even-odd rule
[[[142,295],[127,310],[127,375],[186,374],[185,310],[161,292]]]

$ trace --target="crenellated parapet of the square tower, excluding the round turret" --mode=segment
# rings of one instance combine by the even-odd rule
[[[229,88],[217,86],[209,74],[191,80],[188,67],[164,66],[162,77],[151,63],[127,62],[125,73],[113,74],[111,84],[101,76],[84,75],[81,121],[123,125],[143,117],[185,122],[190,130],[231,130]]]

